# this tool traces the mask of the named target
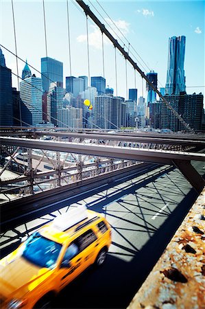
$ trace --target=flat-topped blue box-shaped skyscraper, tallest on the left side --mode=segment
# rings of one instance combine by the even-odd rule
[[[63,63],[49,57],[41,58],[41,78],[43,92],[49,91],[51,82],[63,84]]]

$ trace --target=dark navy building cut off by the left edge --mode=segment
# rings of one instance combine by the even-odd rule
[[[12,71],[5,66],[1,48],[0,61],[0,126],[12,126]]]

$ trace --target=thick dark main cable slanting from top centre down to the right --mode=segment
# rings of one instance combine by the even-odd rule
[[[86,3],[84,3],[84,1],[82,0],[75,0],[80,7],[84,10],[86,16],[90,16],[91,19],[94,21],[94,23],[96,25],[98,25],[99,29],[101,30],[101,32],[104,32],[104,34],[106,34],[106,36],[110,39],[110,41],[113,43],[114,47],[116,47],[117,49],[119,49],[119,51],[121,52],[121,54],[123,54],[123,56],[125,57],[125,59],[127,59],[131,65],[134,67],[134,69],[136,69],[138,71],[138,73],[141,74],[142,78],[144,78],[147,83],[149,84],[149,86],[158,94],[158,96],[162,99],[162,101],[166,104],[167,108],[170,109],[170,111],[173,113],[173,115],[175,115],[179,121],[184,125],[184,127],[189,130],[190,132],[194,133],[194,130],[189,126],[189,124],[186,124],[186,122],[184,121],[184,119],[182,119],[182,117],[178,114],[178,112],[175,111],[175,109],[171,106],[171,104],[167,101],[167,99],[162,95],[162,93],[160,93],[160,91],[158,91],[158,89],[156,87],[154,87],[154,84],[152,84],[152,82],[149,81],[149,78],[147,78],[147,76],[145,76],[145,73],[138,67],[138,65],[136,64],[136,62],[134,62],[134,60],[128,55],[127,52],[125,52],[125,50],[123,49],[123,47],[121,47],[121,45],[118,43],[117,40],[115,40],[115,38],[112,36],[112,34],[110,34],[110,32],[106,29],[105,25],[103,25],[101,23],[101,21],[99,21],[99,19],[97,19],[97,16],[95,16],[95,14],[91,11],[91,9],[89,8],[88,5],[86,5]]]

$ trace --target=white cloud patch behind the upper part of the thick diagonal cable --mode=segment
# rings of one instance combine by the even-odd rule
[[[114,27],[110,19],[106,19],[106,22],[108,23],[108,25],[110,25],[110,29],[108,29],[108,27],[106,28],[116,39],[117,36],[122,38],[129,32],[130,23],[127,23],[126,21],[123,21],[121,19],[119,19],[118,21],[114,21],[115,25],[117,25],[119,30],[117,30],[117,27]],[[95,47],[96,49],[101,49],[101,31],[99,30],[99,27],[97,27],[97,25],[91,25],[91,29],[92,31],[88,34],[89,45]],[[77,36],[77,42],[84,43],[86,41],[87,41],[86,34],[81,34],[80,36]],[[109,44],[109,42],[110,40],[104,36],[104,44]]]

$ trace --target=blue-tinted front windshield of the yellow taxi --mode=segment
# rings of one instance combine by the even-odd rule
[[[56,266],[58,255],[62,248],[58,242],[53,242],[36,232],[30,236],[23,246],[23,258],[40,267]]]

